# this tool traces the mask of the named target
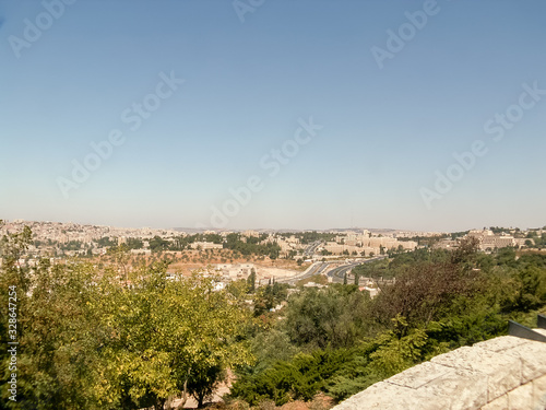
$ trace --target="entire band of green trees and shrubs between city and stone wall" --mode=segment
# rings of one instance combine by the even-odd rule
[[[167,279],[167,262],[127,270],[81,261],[17,260],[29,230],[1,241],[0,342],[16,321],[16,397],[0,351],[0,409],[163,409],[211,397],[227,370],[227,405],[342,400],[431,356],[532,326],[546,305],[546,256],[500,249],[419,249],[355,269],[395,278],[370,300],[353,284],[289,288],[254,279],[215,289],[199,272]],[[13,339],[11,339],[13,340]]]

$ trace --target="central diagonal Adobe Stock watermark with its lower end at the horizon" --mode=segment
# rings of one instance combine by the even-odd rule
[[[280,148],[272,149],[258,162],[260,168],[266,173],[269,178],[277,176],[282,168],[288,165],[290,160],[299,153],[301,147],[311,142],[317,137],[317,132],[324,128],[314,124],[312,117],[309,117],[307,121],[299,118],[298,125],[299,127],[294,132],[293,138],[285,140]],[[226,227],[229,220],[237,216],[250,203],[252,197],[263,190],[265,187],[264,179],[260,175],[251,175],[247,178],[245,185],[228,189],[229,198],[225,199],[219,207],[211,207],[211,226],[215,229]],[[206,227],[206,225],[198,223],[197,227]]]

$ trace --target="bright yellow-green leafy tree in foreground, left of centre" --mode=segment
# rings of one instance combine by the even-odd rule
[[[105,341],[103,397],[159,409],[191,394],[201,406],[227,366],[251,360],[236,341],[248,315],[234,295],[214,291],[211,278],[167,281],[165,272],[149,268],[134,290],[110,289],[115,303],[100,306],[104,325],[120,329]]]

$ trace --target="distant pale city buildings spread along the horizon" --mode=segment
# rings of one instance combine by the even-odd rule
[[[103,225],[83,225],[78,223],[60,222],[33,222],[33,221],[4,221],[0,225],[0,236],[7,233],[21,232],[24,226],[29,226],[33,231],[35,244],[28,248],[29,256],[74,256],[74,255],[102,255],[106,253],[111,244],[122,244],[130,238],[143,242],[142,249],[132,249],[133,254],[150,255],[150,241],[156,236],[164,241],[174,242],[180,236],[190,235],[176,230],[156,230],[151,227],[128,229]],[[226,238],[232,232],[207,231],[205,234],[218,234]],[[272,231],[244,231],[241,241],[262,237],[261,243],[276,243],[280,248],[280,257],[310,257],[314,251],[314,259],[324,255],[352,255],[352,256],[372,256],[385,254],[389,250],[413,250],[418,244],[408,241],[412,237],[441,237],[446,233],[438,232],[410,232],[410,231],[383,231],[382,233],[371,233],[364,231],[330,231],[334,234],[333,241],[322,242],[319,246],[309,248],[309,245],[301,244],[297,235],[278,234]],[[539,232],[542,234],[542,231]],[[475,237],[479,242],[479,247],[484,251],[495,250],[507,246],[525,246],[525,235],[519,230],[501,232],[495,234],[490,230],[473,230],[467,236]],[[108,238],[105,244],[104,239]],[[103,239],[103,241],[100,241]],[[318,244],[318,243],[317,243]],[[74,245],[74,246],[72,246]],[[78,247],[80,246],[80,247]],[[449,238],[439,239],[438,247],[452,248],[458,246],[456,241]],[[215,250],[223,249],[223,244],[212,242],[194,242],[190,248],[194,250]],[[222,268],[228,270],[228,276],[233,276],[237,269],[245,270],[245,267]]]

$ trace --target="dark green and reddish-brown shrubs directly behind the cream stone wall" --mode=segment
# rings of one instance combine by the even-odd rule
[[[258,363],[239,372],[232,396],[252,406],[318,393],[343,400],[434,355],[505,335],[509,318],[534,326],[530,318],[546,304],[546,256],[485,255],[475,245],[397,255],[379,266],[395,283],[372,301],[353,285],[292,296],[283,320],[265,330],[284,351],[292,347],[290,356],[263,360],[263,343],[253,344]]]

